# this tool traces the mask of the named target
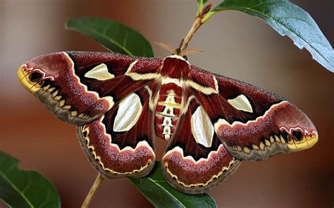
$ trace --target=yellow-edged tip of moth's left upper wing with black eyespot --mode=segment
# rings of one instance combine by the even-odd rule
[[[52,84],[68,67],[73,65],[67,53],[50,53],[24,63],[17,72],[20,83],[31,93]]]

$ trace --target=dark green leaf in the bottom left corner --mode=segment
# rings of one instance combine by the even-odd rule
[[[0,198],[10,207],[60,207],[56,188],[36,171],[18,169],[18,160],[0,152]]]

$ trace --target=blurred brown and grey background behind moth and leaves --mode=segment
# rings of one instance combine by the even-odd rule
[[[217,4],[219,1],[214,1]],[[334,45],[334,1],[293,1],[318,22]],[[79,207],[95,170],[87,162],[75,126],[63,124],[16,80],[30,58],[63,50],[106,51],[91,39],[63,29],[73,16],[111,18],[135,28],[149,41],[178,46],[197,11],[196,1],[1,0],[0,150],[36,169],[58,189],[63,207]],[[249,15],[216,14],[191,41],[205,53],[191,63],[278,93],[299,106],[316,124],[318,144],[304,152],[280,155],[241,167],[209,193],[218,207],[333,207],[333,73]],[[156,56],[168,56],[154,46]],[[166,143],[157,141],[158,158]],[[92,207],[151,207],[126,179],[106,180]]]

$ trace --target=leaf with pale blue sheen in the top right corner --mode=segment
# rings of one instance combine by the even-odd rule
[[[321,6],[321,4],[319,4]],[[318,63],[334,72],[334,51],[309,13],[287,0],[225,0],[207,14],[237,10],[264,20],[282,36],[287,35],[298,48],[306,48]]]

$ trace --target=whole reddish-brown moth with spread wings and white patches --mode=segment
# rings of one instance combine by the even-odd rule
[[[202,70],[183,56],[66,51],[24,63],[18,79],[51,113],[77,126],[88,160],[108,178],[140,178],[154,139],[168,141],[166,181],[204,193],[239,167],[311,148],[309,117],[256,86]]]

